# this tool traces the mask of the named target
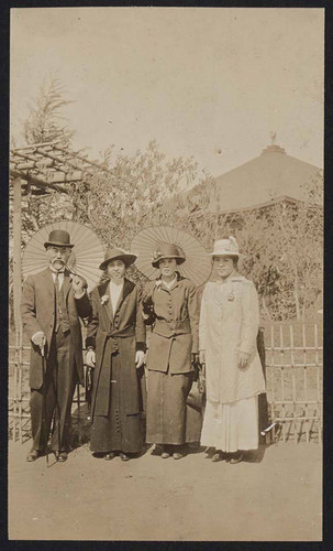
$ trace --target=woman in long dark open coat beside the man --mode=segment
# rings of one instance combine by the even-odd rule
[[[87,365],[95,367],[91,398],[92,452],[123,461],[142,447],[140,377],[143,376],[145,325],[138,288],[125,279],[135,255],[108,249],[100,269],[110,281],[91,293]],[[96,350],[96,352],[95,352]]]

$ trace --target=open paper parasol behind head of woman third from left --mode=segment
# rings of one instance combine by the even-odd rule
[[[202,245],[190,234],[168,226],[153,226],[143,229],[133,239],[131,250],[137,255],[136,268],[149,279],[156,279],[159,270],[152,266],[152,253],[162,242],[179,247],[186,256],[186,261],[177,267],[185,278],[197,287],[207,281],[211,273],[211,259]]]

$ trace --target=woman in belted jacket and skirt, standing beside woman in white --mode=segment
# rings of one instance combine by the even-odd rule
[[[198,359],[199,310],[195,284],[177,272],[185,261],[171,244],[153,253],[160,277],[146,284],[145,323],[152,325],[147,364],[146,441],[159,445],[162,457],[179,460],[186,443],[186,401]]]

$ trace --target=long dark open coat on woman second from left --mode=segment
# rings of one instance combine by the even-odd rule
[[[92,316],[88,324],[86,346],[96,348],[91,415],[108,415],[111,380],[111,355],[118,352],[121,363],[121,389],[127,415],[142,410],[142,393],[135,367],[136,350],[145,350],[145,324],[142,317],[141,291],[124,280],[116,310],[112,313],[109,282],[91,293]],[[107,301],[102,296],[108,296]]]

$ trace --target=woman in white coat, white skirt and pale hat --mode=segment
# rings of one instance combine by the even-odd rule
[[[265,392],[256,346],[258,298],[252,281],[237,272],[238,255],[233,237],[215,241],[217,281],[204,287],[199,324],[207,379],[201,444],[215,447],[213,461],[231,463],[258,447],[258,395]]]

